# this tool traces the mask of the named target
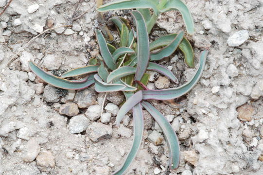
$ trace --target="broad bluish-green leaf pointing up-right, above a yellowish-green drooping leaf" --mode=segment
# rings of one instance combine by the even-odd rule
[[[161,50],[155,52],[155,53],[151,53],[151,61],[157,61],[160,60],[164,57],[170,56],[171,54],[173,54],[175,52],[175,50],[177,49],[177,47],[179,46],[179,44],[181,43],[182,39],[183,39],[183,32],[180,32],[175,39],[166,47],[162,48]]]

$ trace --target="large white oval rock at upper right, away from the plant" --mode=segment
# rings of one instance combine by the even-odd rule
[[[240,30],[228,37],[228,46],[235,47],[243,44],[249,38],[247,30]]]

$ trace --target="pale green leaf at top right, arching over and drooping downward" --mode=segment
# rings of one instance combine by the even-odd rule
[[[189,12],[187,6],[181,0],[169,0],[160,12],[167,12],[170,10],[177,10],[182,14],[184,23],[186,24],[186,30],[189,34],[193,35],[194,25],[193,18]]]

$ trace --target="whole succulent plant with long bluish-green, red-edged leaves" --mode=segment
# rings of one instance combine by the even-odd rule
[[[149,74],[146,73],[146,70],[157,71],[175,84],[178,83],[177,78],[170,70],[156,63],[156,61],[173,54],[177,48],[184,54],[186,64],[193,67],[193,49],[189,41],[183,37],[183,32],[162,36],[149,43],[148,34],[153,27],[151,23],[156,21],[160,12],[178,9],[183,14],[187,30],[192,33],[193,20],[187,7],[180,0],[161,0],[160,3],[157,3],[157,0],[121,0],[102,5],[99,11],[130,8],[140,8],[131,12],[136,31],[127,25],[125,19],[110,18],[120,33],[120,47],[116,49],[106,43],[103,34],[96,30],[100,54],[97,55],[96,59],[89,60],[88,66],[67,71],[57,77],[40,69],[33,62],[29,63],[31,70],[38,77],[54,87],[83,89],[95,84],[97,92],[123,92],[126,102],[121,106],[115,124],[119,126],[124,115],[132,109],[134,140],[122,168],[114,172],[113,175],[123,175],[139,150],[143,135],[142,107],[152,115],[163,131],[170,151],[170,169],[176,169],[179,166],[180,150],[175,131],[162,113],[151,105],[148,100],[175,99],[191,90],[201,77],[208,54],[207,51],[201,53],[199,67],[188,83],[177,88],[148,89],[146,85]],[[153,9],[153,15],[150,15],[148,8]],[[87,77],[81,80],[66,79],[79,75],[87,75]]]

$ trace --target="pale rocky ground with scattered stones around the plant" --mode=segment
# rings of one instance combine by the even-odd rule
[[[114,125],[122,94],[110,94],[100,116],[104,94],[92,87],[78,92],[53,88],[27,65],[34,60],[59,74],[87,65],[99,52],[95,1],[84,0],[76,8],[78,1],[13,0],[0,16],[0,175],[109,175],[129,151],[132,115],[120,128]],[[196,66],[200,51],[209,49],[207,66],[187,96],[176,102],[153,101],[178,135],[180,166],[166,170],[166,141],[144,111],[144,140],[127,175],[262,175],[263,1],[184,1],[196,28],[187,36]],[[0,7],[6,2],[0,0]],[[130,18],[128,11],[105,15]],[[72,27],[30,41],[62,25]],[[150,38],[180,30],[185,30],[180,14],[168,12]],[[185,66],[181,53],[161,62],[180,84],[195,71]],[[151,72],[148,88],[173,86]]]

